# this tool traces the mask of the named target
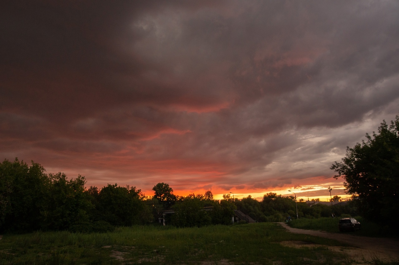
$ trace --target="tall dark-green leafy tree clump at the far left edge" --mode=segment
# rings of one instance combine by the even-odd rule
[[[31,166],[18,158],[0,163],[0,231],[68,229],[89,219],[85,178],[44,172],[33,161]]]

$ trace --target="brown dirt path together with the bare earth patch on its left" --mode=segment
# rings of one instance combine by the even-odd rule
[[[391,238],[375,238],[375,237],[362,237],[356,235],[347,235],[343,233],[328,233],[316,230],[305,230],[292,228],[286,223],[280,223],[284,228],[292,233],[301,233],[307,235],[314,235],[328,239],[334,239],[344,242],[352,247],[332,247],[326,245],[309,244],[303,241],[283,241],[281,244],[289,247],[326,247],[331,251],[344,252],[348,255],[349,259],[355,261],[355,264],[370,264],[375,261],[384,262],[399,262],[399,240]]]

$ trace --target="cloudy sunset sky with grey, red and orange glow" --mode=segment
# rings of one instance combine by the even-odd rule
[[[346,198],[330,166],[399,111],[398,1],[0,10],[0,159],[87,187]]]

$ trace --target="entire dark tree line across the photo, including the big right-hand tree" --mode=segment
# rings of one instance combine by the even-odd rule
[[[334,213],[362,217],[397,229],[399,212],[399,115],[387,125],[385,121],[366,141],[348,147],[341,162],[332,164],[342,177],[353,200],[345,206],[326,206],[295,202],[293,196],[268,193],[258,201],[251,196],[238,199],[224,194],[214,200],[211,191],[176,196],[166,183],[145,196],[135,186],[108,184],[86,189],[83,176],[69,179],[61,172],[45,174],[38,163],[28,166],[16,158],[0,163],[0,232],[34,230],[108,231],[115,226],[157,223],[163,210],[173,209],[168,223],[179,227],[228,224],[239,208],[258,221],[284,221],[299,218],[328,217]],[[334,201],[339,200],[334,196]],[[315,200],[316,202],[316,200]],[[213,207],[204,211],[204,207]]]

